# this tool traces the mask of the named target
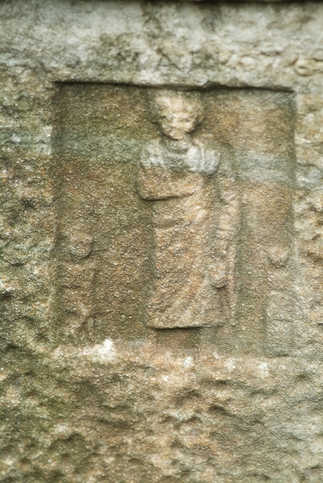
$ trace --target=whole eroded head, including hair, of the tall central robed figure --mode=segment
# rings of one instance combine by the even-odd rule
[[[155,90],[151,95],[153,116],[170,139],[185,139],[202,117],[197,94],[175,90]]]

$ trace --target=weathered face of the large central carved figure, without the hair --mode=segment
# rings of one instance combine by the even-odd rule
[[[197,124],[197,106],[189,99],[160,95],[156,98],[159,126],[170,139],[184,139]]]

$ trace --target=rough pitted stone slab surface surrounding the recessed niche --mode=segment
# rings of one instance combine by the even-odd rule
[[[17,0],[0,21],[0,481],[321,482],[323,3]],[[293,351],[68,332],[55,126],[71,82],[295,99]]]

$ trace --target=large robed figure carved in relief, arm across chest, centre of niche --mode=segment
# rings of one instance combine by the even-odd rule
[[[148,325],[211,326],[217,322],[225,266],[215,264],[212,233],[215,172],[219,154],[193,136],[202,104],[191,92],[155,90],[153,119],[162,132],[146,148],[139,195],[152,202],[155,283]]]

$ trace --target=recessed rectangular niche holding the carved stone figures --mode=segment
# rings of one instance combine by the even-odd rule
[[[293,118],[286,92],[62,85],[54,152],[66,334],[207,327],[231,346],[288,351]]]

